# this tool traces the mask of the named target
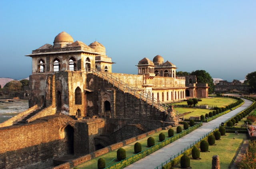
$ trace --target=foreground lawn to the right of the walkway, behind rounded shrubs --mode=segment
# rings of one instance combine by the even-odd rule
[[[190,167],[192,169],[210,169],[212,168],[212,156],[219,155],[220,168],[228,169],[242,141],[246,139],[246,134],[226,133],[226,136],[221,136],[220,139],[216,140],[216,145],[209,145],[210,152],[200,152],[200,160],[194,160],[190,156]],[[180,165],[177,165],[174,169],[179,169],[179,167]]]

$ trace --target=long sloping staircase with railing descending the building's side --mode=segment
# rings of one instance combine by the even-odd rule
[[[144,90],[137,87],[129,86],[127,83],[124,83],[122,80],[118,79],[117,77],[113,76],[108,72],[98,71],[97,69],[93,68],[91,68],[90,70],[86,69],[86,72],[92,72],[96,74],[98,77],[102,77],[102,79],[107,80],[109,83],[112,83],[113,86],[118,87],[120,90],[124,92],[128,90],[128,93],[134,94],[134,96],[143,99],[146,103],[152,104],[152,107],[155,106],[156,108],[158,108],[158,110],[167,113],[166,104],[160,102],[160,100],[157,100],[156,98],[148,94],[145,94]]]

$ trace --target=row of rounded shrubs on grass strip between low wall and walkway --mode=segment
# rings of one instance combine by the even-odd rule
[[[188,125],[188,123],[186,123]],[[194,120],[191,121],[190,123],[190,126],[194,126]],[[188,129],[188,128],[185,128],[184,129]],[[182,132],[182,128],[181,126],[178,126],[176,128],[176,133],[179,134]],[[174,130],[172,128],[170,128],[168,130],[168,137],[172,137],[174,136]],[[163,133],[160,133],[158,135],[158,138],[159,138],[159,141],[164,141],[165,140],[165,135]],[[149,137],[148,140],[147,140],[147,146],[148,147],[152,147],[155,145],[155,139],[153,137]],[[134,153],[137,154],[137,153],[140,153],[142,151],[142,145],[141,143],[139,142],[136,142],[134,144]],[[124,148],[120,148],[116,151],[116,158],[118,159],[118,161],[122,161],[124,159],[126,159],[126,150]],[[99,158],[98,159],[98,169],[104,169],[106,167],[106,161],[103,159],[103,158]]]

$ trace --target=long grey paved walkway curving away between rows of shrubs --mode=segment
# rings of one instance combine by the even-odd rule
[[[244,104],[235,110],[224,114],[208,123],[203,123],[203,126],[194,130],[193,132],[183,136],[182,138],[166,145],[165,147],[155,151],[154,153],[140,159],[139,161],[127,166],[125,169],[154,169],[157,165],[160,165],[162,162],[174,157],[181,150],[190,146],[194,141],[198,140],[212,129],[220,126],[221,122],[224,122],[228,118],[237,114],[238,112],[244,110],[252,104],[251,100],[244,99]]]

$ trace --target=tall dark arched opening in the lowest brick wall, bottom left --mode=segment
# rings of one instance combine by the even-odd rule
[[[64,128],[64,143],[67,145],[67,153],[74,154],[74,129],[68,125]]]

